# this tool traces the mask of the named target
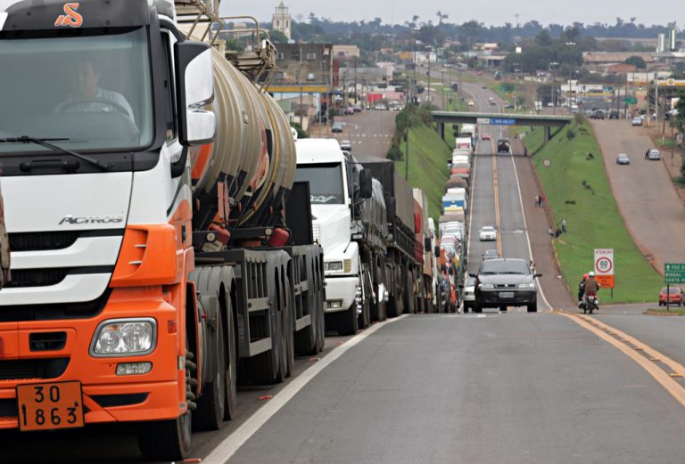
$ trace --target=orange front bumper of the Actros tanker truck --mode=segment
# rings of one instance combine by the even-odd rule
[[[156,290],[156,291],[155,291]],[[156,342],[149,354],[95,357],[91,342],[101,322],[153,318]],[[23,366],[0,382],[0,428],[17,428],[18,385],[78,381],[86,424],[175,419],[186,411],[185,366],[179,359],[178,313],[161,288],[115,289],[103,309],[87,319],[1,322],[2,363]],[[58,349],[37,351],[32,336],[64,333]],[[121,363],[149,362],[144,374],[119,375]]]

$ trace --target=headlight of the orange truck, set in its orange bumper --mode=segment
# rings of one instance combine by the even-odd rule
[[[101,322],[90,344],[91,356],[140,356],[153,351],[157,322],[152,318],[111,319]]]

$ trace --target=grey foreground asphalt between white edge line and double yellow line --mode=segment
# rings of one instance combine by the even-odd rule
[[[680,403],[567,318],[413,315],[276,412],[228,462],[675,463]]]

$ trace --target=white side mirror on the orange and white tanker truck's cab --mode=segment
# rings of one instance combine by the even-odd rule
[[[211,142],[217,131],[212,111],[202,107],[214,100],[214,71],[210,45],[193,40],[174,45],[178,104],[178,141],[185,146]]]

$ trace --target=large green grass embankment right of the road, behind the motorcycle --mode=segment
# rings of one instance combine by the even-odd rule
[[[575,137],[567,134],[573,131]],[[555,221],[568,232],[553,240],[566,284],[573,290],[593,267],[594,248],[614,248],[614,299],[605,304],[654,301],[663,278],[633,242],[609,186],[597,139],[587,124],[572,124],[543,146],[543,130],[527,132],[524,143],[541,178]],[[592,154],[590,157],[589,153]],[[544,160],[549,159],[549,168]]]

